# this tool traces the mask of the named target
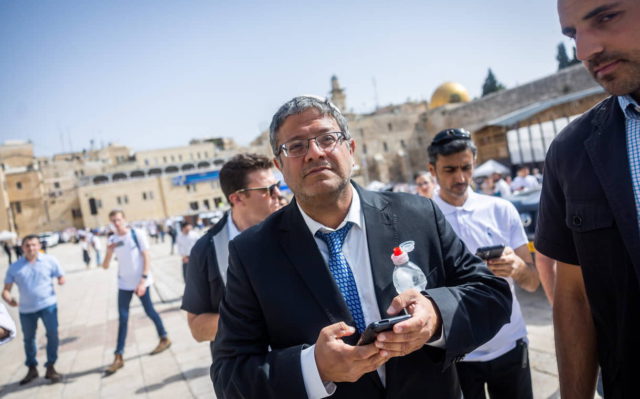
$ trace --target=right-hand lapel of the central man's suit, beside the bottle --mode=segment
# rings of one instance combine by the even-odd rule
[[[387,308],[398,295],[393,286],[393,263],[391,251],[399,244],[397,218],[391,213],[389,202],[379,194],[362,190],[356,186],[367,230],[369,262],[378,300],[378,309],[382,317],[387,317]]]

